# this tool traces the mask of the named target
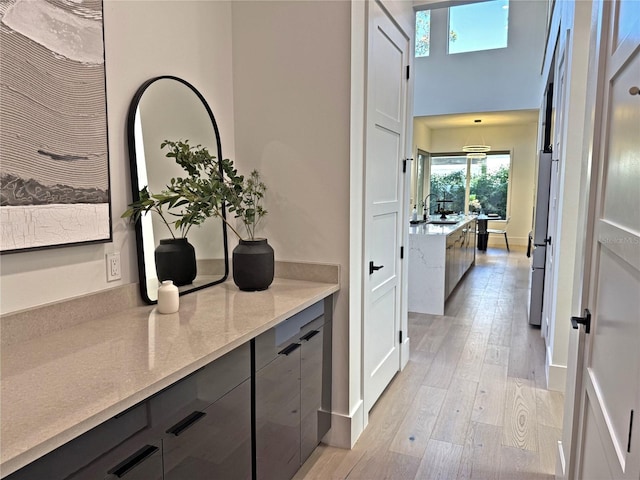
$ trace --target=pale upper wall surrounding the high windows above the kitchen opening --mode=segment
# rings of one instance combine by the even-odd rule
[[[547,2],[509,2],[508,47],[447,55],[448,9],[431,10],[428,57],[415,59],[414,116],[538,109]]]

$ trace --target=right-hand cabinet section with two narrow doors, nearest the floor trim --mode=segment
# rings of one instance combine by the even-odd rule
[[[293,477],[331,426],[330,331],[319,302],[255,339],[257,479]]]

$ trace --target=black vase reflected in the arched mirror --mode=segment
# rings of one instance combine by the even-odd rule
[[[189,285],[196,278],[196,251],[186,238],[165,238],[155,251],[156,273],[160,282],[173,280],[177,286]]]

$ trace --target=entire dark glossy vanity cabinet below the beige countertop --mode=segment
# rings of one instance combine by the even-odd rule
[[[331,426],[330,301],[3,479],[293,477]]]

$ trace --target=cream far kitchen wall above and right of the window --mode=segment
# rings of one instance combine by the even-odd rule
[[[509,212],[511,220],[507,226],[510,245],[526,245],[533,216],[535,165],[537,160],[536,139],[538,127],[535,123],[501,126],[432,129],[428,133],[416,128],[417,148],[429,153],[458,152],[465,140],[481,135],[492,150],[511,152],[511,182],[509,188]],[[424,142],[424,143],[421,143]],[[503,223],[490,222],[490,228],[502,228]],[[501,237],[490,238],[492,245],[504,246]]]

